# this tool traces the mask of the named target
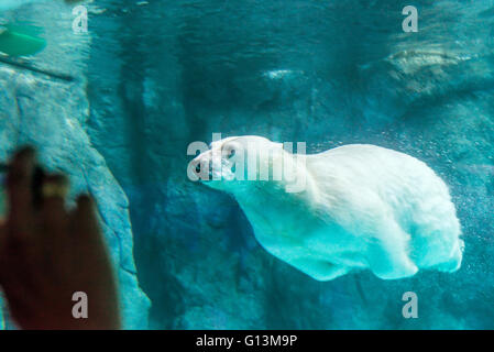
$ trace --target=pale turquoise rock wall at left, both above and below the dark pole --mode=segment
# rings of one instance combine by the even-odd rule
[[[20,145],[37,148],[40,162],[70,178],[72,196],[91,194],[97,204],[121,290],[124,327],[147,327],[147,297],[139,287],[128,198],[87,134],[85,78],[89,35],[72,32],[70,8],[56,3],[21,8],[9,21],[44,29],[46,50],[23,65],[70,75],[74,81],[0,63],[0,160]]]

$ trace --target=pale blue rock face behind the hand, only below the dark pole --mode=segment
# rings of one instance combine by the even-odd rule
[[[149,301],[136,279],[128,200],[86,134],[85,90],[0,66],[0,160],[19,145],[34,145],[47,169],[68,175],[72,199],[79,193],[95,197],[120,282],[124,327],[145,328]]]

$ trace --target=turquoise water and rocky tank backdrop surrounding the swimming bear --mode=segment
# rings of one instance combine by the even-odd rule
[[[402,29],[408,4],[416,33]],[[33,143],[96,196],[129,328],[494,328],[494,1],[87,8],[83,34],[63,3],[0,13],[43,28],[48,45],[29,65],[76,78],[0,63],[0,156]],[[370,143],[426,162],[458,211],[461,268],[301,274],[259,245],[232,198],[187,178],[187,146],[215,132],[305,141],[309,153]],[[406,292],[417,319],[402,316]]]

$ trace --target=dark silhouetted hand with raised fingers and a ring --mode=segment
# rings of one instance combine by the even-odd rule
[[[119,329],[117,285],[92,200],[80,196],[68,211],[66,178],[46,175],[34,201],[34,170],[35,153],[23,148],[7,176],[0,286],[11,317],[23,329]],[[78,292],[87,297],[87,318],[73,315]]]

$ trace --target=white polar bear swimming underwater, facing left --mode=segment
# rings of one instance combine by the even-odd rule
[[[274,177],[279,163],[295,170],[292,183],[304,179],[303,190],[287,191],[288,182]],[[253,166],[256,177],[245,177]],[[260,177],[265,166],[268,178]],[[234,197],[267,252],[317,280],[354,270],[396,279],[461,265],[461,228],[447,185],[404,153],[350,144],[300,155],[245,135],[213,142],[189,169]]]

